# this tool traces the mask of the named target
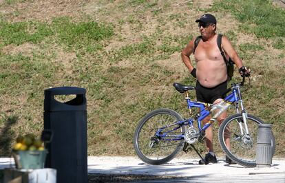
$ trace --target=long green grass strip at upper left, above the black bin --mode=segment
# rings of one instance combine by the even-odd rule
[[[5,45],[21,45],[23,43],[41,43],[55,36],[59,44],[72,50],[96,52],[101,50],[100,41],[114,35],[112,25],[104,25],[94,21],[72,22],[68,17],[59,17],[52,23],[39,21],[8,23],[0,21],[0,40]]]

